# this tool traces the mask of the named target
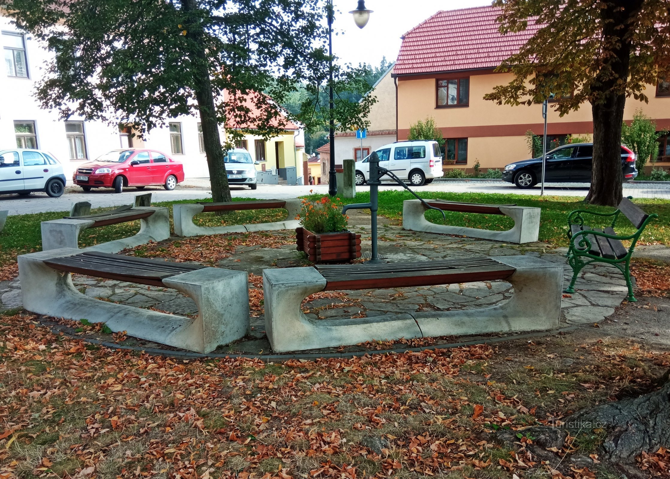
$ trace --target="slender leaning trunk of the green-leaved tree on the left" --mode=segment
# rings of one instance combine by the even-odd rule
[[[230,201],[230,187],[224,162],[225,153],[221,147],[221,137],[218,132],[216,106],[212,95],[209,64],[204,44],[204,30],[194,11],[198,9],[198,0],[182,0],[182,11],[186,13],[186,35],[192,39],[192,66],[194,70],[194,91],[200,111],[202,124],[202,141],[204,142],[207,166],[212,185],[212,201],[220,203]]]

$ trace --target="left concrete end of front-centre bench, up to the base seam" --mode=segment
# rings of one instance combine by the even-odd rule
[[[265,332],[275,353],[355,345],[373,339],[421,337],[409,314],[311,320],[301,310],[302,300],[324,290],[326,280],[314,268],[263,270]]]

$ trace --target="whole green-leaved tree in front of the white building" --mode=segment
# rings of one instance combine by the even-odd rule
[[[230,201],[224,149],[251,130],[281,132],[279,104],[296,82],[327,78],[322,0],[0,0],[0,8],[54,53],[36,96],[62,118],[145,133],[200,116],[214,201]],[[231,127],[225,142],[220,125]]]

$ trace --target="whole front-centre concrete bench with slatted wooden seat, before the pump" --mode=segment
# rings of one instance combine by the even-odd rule
[[[328,320],[312,320],[300,307],[310,294],[324,290],[485,280],[510,282],[512,298],[474,310]],[[563,266],[533,256],[264,270],[265,331],[273,351],[283,353],[373,340],[547,330],[559,324],[562,286]]]

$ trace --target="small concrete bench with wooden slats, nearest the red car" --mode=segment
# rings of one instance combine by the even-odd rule
[[[149,242],[159,242],[170,237],[170,212],[165,207],[122,206],[96,215],[66,216],[63,219],[42,221],[42,250],[78,248],[79,233],[84,229],[127,223],[140,220],[139,233],[84,248],[88,251],[118,253]]]

